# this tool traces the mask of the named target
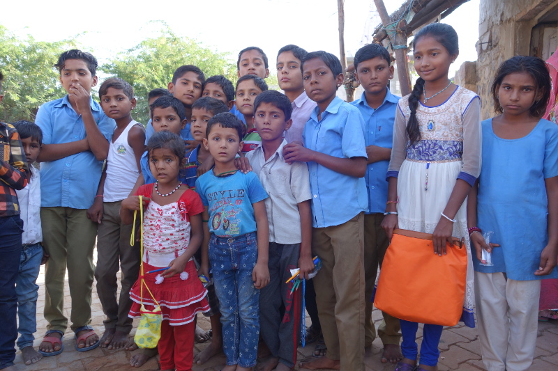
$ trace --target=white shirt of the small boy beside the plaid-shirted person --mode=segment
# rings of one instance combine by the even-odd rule
[[[40,226],[40,173],[29,164],[31,179],[29,184],[17,193],[20,202],[20,218],[23,221],[22,244],[43,242],[43,230]]]

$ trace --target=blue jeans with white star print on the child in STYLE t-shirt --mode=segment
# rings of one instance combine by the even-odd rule
[[[252,281],[257,262],[256,233],[234,238],[211,235],[209,261],[220,301],[227,365],[254,367],[259,338],[259,290]]]

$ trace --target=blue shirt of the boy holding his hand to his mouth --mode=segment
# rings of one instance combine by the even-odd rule
[[[100,132],[110,141],[116,123],[93,99],[90,106]],[[83,118],[72,108],[68,95],[40,106],[35,123],[43,131],[43,144],[80,141],[86,136]],[[42,162],[40,205],[88,209],[97,194],[102,168],[103,161],[98,161],[91,151]]]

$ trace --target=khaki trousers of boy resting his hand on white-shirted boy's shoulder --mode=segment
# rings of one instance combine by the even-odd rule
[[[364,371],[363,216],[312,230],[312,252],[323,263],[314,278],[319,322],[327,357],[341,370]]]

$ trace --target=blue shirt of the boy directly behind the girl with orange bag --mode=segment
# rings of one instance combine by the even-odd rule
[[[378,147],[391,148],[393,144],[393,123],[395,122],[395,110],[401,99],[386,88],[387,93],[384,102],[377,109],[373,109],[366,102],[365,93],[359,100],[351,104],[356,106],[364,119],[364,142],[366,146],[377,145]],[[388,200],[388,173],[389,159],[377,161],[366,166],[366,188],[368,189],[368,212],[367,214],[384,212]]]

